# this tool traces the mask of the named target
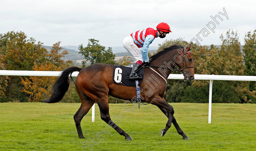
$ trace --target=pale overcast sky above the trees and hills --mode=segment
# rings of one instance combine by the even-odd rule
[[[30,38],[52,46],[87,45],[88,39],[99,40],[106,47],[122,46],[123,39],[137,30],[156,28],[160,22],[170,25],[172,33],[156,38],[151,46],[166,39],[190,41],[199,35],[201,45],[220,45],[220,35],[237,30],[240,42],[256,29],[256,1],[246,0],[0,0],[0,33],[23,31]],[[226,16],[219,14],[224,13]],[[219,15],[213,33],[206,25]],[[210,25],[213,27],[213,25]],[[198,38],[197,38],[198,39]]]

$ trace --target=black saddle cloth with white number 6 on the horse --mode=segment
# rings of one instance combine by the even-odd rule
[[[124,65],[114,65],[113,69],[113,82],[116,84],[120,84],[123,86],[130,86],[136,87],[135,80],[130,80],[129,76],[132,71],[132,68]],[[136,72],[137,74],[141,75],[142,79],[144,76],[144,68],[141,68],[139,71]],[[138,86],[142,80],[138,80]]]

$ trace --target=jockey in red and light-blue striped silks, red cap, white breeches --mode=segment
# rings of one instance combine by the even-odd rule
[[[135,76],[135,73],[139,69],[143,62],[149,63],[148,59],[148,46],[152,41],[157,38],[165,38],[166,34],[172,32],[170,26],[164,22],[161,22],[156,26],[156,29],[147,28],[131,33],[123,40],[124,48],[133,56],[135,64],[133,64],[132,72],[129,76],[130,79],[141,79],[141,76]],[[139,48],[142,47],[142,53]]]

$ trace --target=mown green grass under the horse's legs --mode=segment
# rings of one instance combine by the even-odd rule
[[[131,112],[123,104],[110,104],[110,116],[133,141],[126,141],[114,129],[98,141],[96,134],[106,129],[95,106],[81,127],[85,139],[79,139],[73,115],[79,103],[0,103],[1,150],[89,150],[83,143],[95,138],[94,150],[255,150],[256,104],[212,104],[212,123],[208,124],[208,104],[172,103],[175,118],[190,140],[183,140],[174,126],[161,137],[167,118],[153,105],[137,106]],[[132,104],[126,104],[128,109]],[[113,118],[112,118],[113,119]],[[102,132],[103,133],[103,132]],[[97,141],[96,141],[97,140]]]

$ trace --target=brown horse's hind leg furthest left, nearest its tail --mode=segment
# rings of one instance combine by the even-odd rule
[[[84,138],[82,129],[81,129],[81,120],[83,119],[83,117],[88,113],[88,111],[91,109],[91,107],[93,106],[93,104],[95,103],[94,100],[92,100],[91,98],[89,98],[88,96],[86,96],[85,94],[79,95],[80,99],[81,99],[81,106],[80,108],[77,110],[76,114],[74,115],[74,120],[75,120],[75,124],[76,124],[76,130],[78,133],[79,138]]]

